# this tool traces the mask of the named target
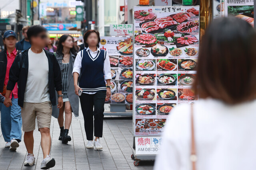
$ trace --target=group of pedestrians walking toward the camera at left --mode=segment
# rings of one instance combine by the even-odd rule
[[[34,165],[34,140],[38,139],[34,139],[33,132],[37,121],[44,156],[41,169],[54,167],[55,160],[50,156],[51,117],[58,119],[58,139],[68,143],[72,140],[68,135],[72,112],[78,117],[80,98],[86,148],[102,149],[104,101],[110,97],[112,77],[108,53],[99,49],[98,31],[88,30],[82,47],[71,35],[62,35],[55,46],[41,25],[25,26],[22,35],[24,39],[18,43],[14,31],[2,35],[0,112],[5,147],[17,150],[23,130],[28,152],[24,166]]]

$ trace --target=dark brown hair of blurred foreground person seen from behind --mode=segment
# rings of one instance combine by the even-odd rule
[[[256,31],[239,18],[214,20],[200,43],[194,90],[238,104],[256,98]]]

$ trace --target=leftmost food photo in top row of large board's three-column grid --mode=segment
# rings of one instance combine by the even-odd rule
[[[156,71],[155,59],[136,59],[136,71]]]

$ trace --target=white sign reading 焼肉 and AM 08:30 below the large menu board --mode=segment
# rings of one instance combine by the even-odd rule
[[[136,155],[158,154],[162,137],[135,137]]]

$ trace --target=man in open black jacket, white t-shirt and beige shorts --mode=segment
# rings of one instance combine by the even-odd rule
[[[41,169],[49,169],[55,166],[54,158],[49,155],[52,105],[56,105],[55,90],[58,93],[58,107],[63,105],[62,74],[54,54],[43,49],[49,41],[47,30],[41,25],[33,25],[28,29],[27,35],[31,48],[18,55],[10,68],[4,105],[12,105],[9,96],[18,82],[18,104],[22,107],[22,129],[25,132],[24,143],[28,151],[24,166],[32,166],[35,163],[33,131],[37,118],[44,154]]]

